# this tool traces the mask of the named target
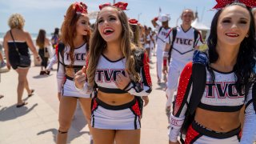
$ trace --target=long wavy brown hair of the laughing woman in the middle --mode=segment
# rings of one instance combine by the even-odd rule
[[[139,74],[135,71],[135,60],[134,60],[134,55],[132,54],[133,50],[135,50],[135,46],[134,44],[132,44],[130,40],[132,31],[130,30],[128,18],[123,10],[119,10],[114,6],[111,6],[111,7],[113,7],[118,11],[118,18],[122,23],[121,50],[122,50],[122,54],[126,58],[126,70],[128,74],[130,74],[130,78],[135,82],[138,82],[140,80],[140,77],[139,77]],[[88,67],[86,70],[88,84],[91,87],[94,86],[94,77],[96,73],[96,67],[98,65],[98,59],[105,48],[106,48],[106,41],[102,38],[101,34],[98,31],[98,18],[97,18],[94,34],[90,39],[90,50],[89,50],[90,57],[89,57]]]

